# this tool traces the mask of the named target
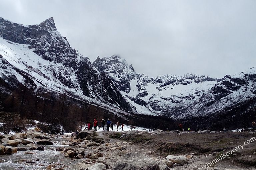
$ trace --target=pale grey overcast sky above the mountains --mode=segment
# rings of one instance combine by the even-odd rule
[[[256,66],[254,0],[0,0],[23,25],[53,17],[70,45],[94,61],[118,54],[136,72],[221,78]]]

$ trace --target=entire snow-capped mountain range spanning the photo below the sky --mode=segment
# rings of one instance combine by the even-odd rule
[[[256,68],[222,79],[195,74],[149,78],[117,55],[92,63],[61,36],[53,18],[32,26],[0,18],[0,89],[11,93],[19,84],[127,115],[176,120],[256,108]]]

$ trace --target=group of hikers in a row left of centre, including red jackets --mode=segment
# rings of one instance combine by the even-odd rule
[[[106,126],[106,130],[107,131],[113,131],[113,126],[114,126],[114,123],[113,123],[113,121],[110,121],[110,119],[108,119],[107,120],[107,123],[105,122],[105,119],[102,119],[101,120],[101,125],[102,125],[102,131],[105,131],[105,126]],[[119,126],[121,125],[121,128],[122,128],[122,131],[124,131],[124,124],[120,124],[120,122],[116,122],[116,131],[118,131],[119,130]],[[99,129],[99,122],[96,120],[96,119],[94,119],[94,121],[93,121],[93,127],[94,127],[94,131],[96,132],[97,131],[97,127],[98,127],[98,129]],[[87,127],[86,128],[88,128],[88,130],[90,130],[92,127],[91,127],[91,124],[90,124],[90,122],[87,122]],[[109,130],[109,128],[110,128],[110,130]]]

